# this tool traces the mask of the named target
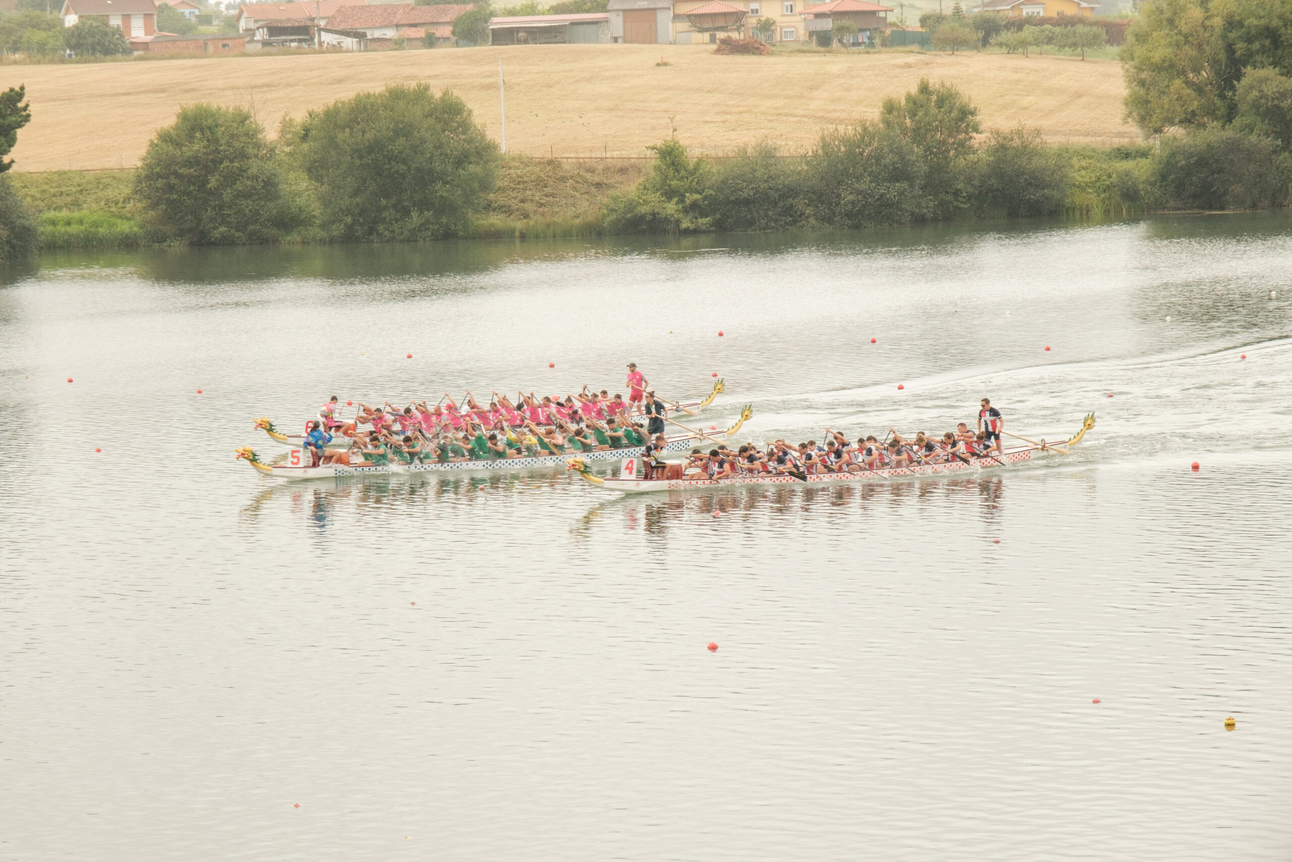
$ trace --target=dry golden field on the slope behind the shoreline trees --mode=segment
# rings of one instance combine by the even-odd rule
[[[669,65],[656,66],[662,58]],[[718,57],[707,45],[547,45],[6,65],[0,87],[26,84],[31,98],[32,120],[14,150],[19,171],[115,168],[134,164],[182,105],[253,107],[273,132],[283,114],[398,81],[452,89],[496,138],[499,59],[508,149],[531,155],[640,156],[672,125],[699,151],[760,137],[800,150],[824,125],[875,116],[884,97],[921,76],[969,93],[985,127],[1022,121],[1052,141],[1105,145],[1138,137],[1121,116],[1119,63],[1016,54]]]

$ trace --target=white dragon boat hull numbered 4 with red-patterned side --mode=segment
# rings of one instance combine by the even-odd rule
[[[740,487],[745,485],[837,485],[844,482],[888,482],[893,479],[911,479],[941,476],[973,476],[985,470],[1001,469],[1013,464],[1022,464],[1036,457],[1053,455],[1054,452],[1070,452],[1074,446],[1081,442],[1085,433],[1094,428],[1094,414],[1090,414],[1081,423],[1081,430],[1066,441],[1047,443],[1040,441],[1031,446],[1016,446],[1005,448],[1000,455],[987,455],[974,457],[972,461],[947,461],[941,464],[917,464],[913,467],[891,467],[857,472],[839,473],[745,473],[727,476],[720,479],[700,476],[696,478],[681,479],[647,479],[637,478],[637,468],[641,459],[625,457],[620,461],[620,474],[618,478],[605,478],[594,476],[588,469],[585,457],[571,457],[566,463],[566,469],[578,473],[596,487],[603,491],[618,491],[620,494],[649,494],[654,491],[698,491],[718,490],[727,487]],[[606,460],[606,459],[601,459]]]

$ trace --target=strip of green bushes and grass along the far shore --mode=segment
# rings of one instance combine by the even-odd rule
[[[1266,90],[1282,94],[1283,81],[1249,78],[1255,96],[1239,88],[1242,123],[1163,136],[1156,145],[1050,146],[1023,127],[983,132],[964,93],[921,80],[903,98],[886,100],[877,120],[822,131],[808,152],[756,142],[734,158],[693,159],[669,137],[650,147],[649,163],[503,156],[461,100],[426,85],[360,93],[284,120],[276,141],[244,110],[193,105],[158,132],[137,169],[4,177],[10,190],[0,189],[8,195],[0,209],[10,215],[0,216],[16,225],[35,216],[44,248],[125,248],[1282,207],[1292,180],[1289,136],[1257,120],[1273,110],[1265,102],[1282,110],[1282,96]]]

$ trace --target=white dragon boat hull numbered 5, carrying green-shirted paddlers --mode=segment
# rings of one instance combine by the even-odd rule
[[[678,434],[665,438],[664,451],[681,452],[691,448],[696,441],[702,439],[730,439],[753,416],[751,407],[740,411],[735,424],[722,432],[712,434]],[[615,461],[621,459],[637,460],[642,456],[642,446],[625,446],[623,448],[590,450],[584,451],[580,457],[587,461]],[[345,476],[410,476],[416,473],[469,473],[469,472],[495,472],[495,470],[528,470],[537,468],[566,467],[567,455],[527,455],[522,457],[499,457],[490,460],[468,461],[412,461],[390,464],[372,464],[370,467],[349,467],[346,464],[323,464],[309,467],[309,452],[304,448],[293,448],[286,464],[265,464],[253,448],[243,447],[235,450],[238,460],[245,460],[261,476],[276,479],[318,479],[337,478]]]

